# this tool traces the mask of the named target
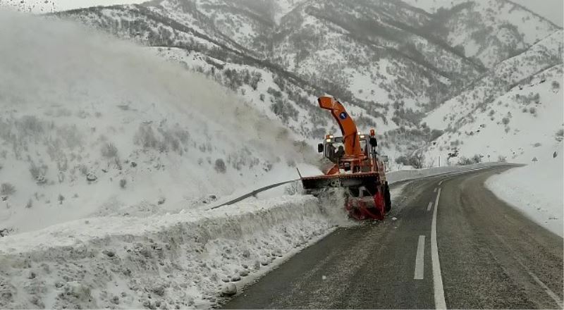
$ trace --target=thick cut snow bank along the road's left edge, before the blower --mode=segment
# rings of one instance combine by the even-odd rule
[[[333,230],[343,211],[324,206],[286,196],[3,237],[0,307],[209,308],[226,283],[249,283]]]

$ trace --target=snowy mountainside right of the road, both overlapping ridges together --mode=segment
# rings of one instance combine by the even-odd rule
[[[498,63],[489,73],[423,119],[446,132],[429,144],[429,161],[448,154],[484,161],[530,163],[559,152],[563,130],[563,32]],[[560,141],[558,140],[560,139]],[[456,156],[453,161],[459,160]]]

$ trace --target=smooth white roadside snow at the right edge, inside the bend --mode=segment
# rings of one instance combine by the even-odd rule
[[[486,181],[486,187],[503,201],[561,237],[564,236],[564,187],[562,144],[560,155],[514,168]]]

